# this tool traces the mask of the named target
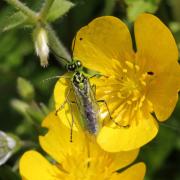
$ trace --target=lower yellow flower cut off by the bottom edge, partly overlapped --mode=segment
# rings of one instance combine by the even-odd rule
[[[49,131],[40,137],[40,144],[55,161],[50,163],[34,150],[26,152],[20,160],[20,174],[23,179],[143,180],[144,163],[132,165],[120,173],[116,172],[132,163],[138,150],[107,153],[93,138],[87,137],[81,131],[73,131],[73,142],[70,142],[69,128],[61,123],[54,112],[45,118],[43,126]]]

